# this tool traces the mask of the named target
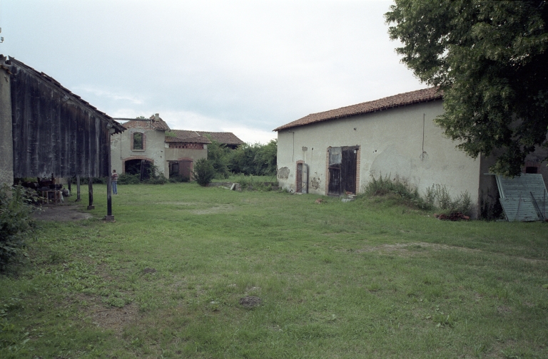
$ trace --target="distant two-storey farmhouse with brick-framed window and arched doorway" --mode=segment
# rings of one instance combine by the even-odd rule
[[[211,140],[230,148],[243,143],[232,132],[171,130],[158,113],[148,119],[116,120],[127,129],[111,137],[112,165],[120,173],[136,174],[154,165],[166,177],[190,178],[193,163],[208,157]]]

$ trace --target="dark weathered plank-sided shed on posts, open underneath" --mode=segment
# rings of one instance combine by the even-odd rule
[[[11,184],[14,177],[110,179],[110,137],[123,130],[54,78],[0,55],[0,182]],[[110,185],[107,192],[111,215]]]

